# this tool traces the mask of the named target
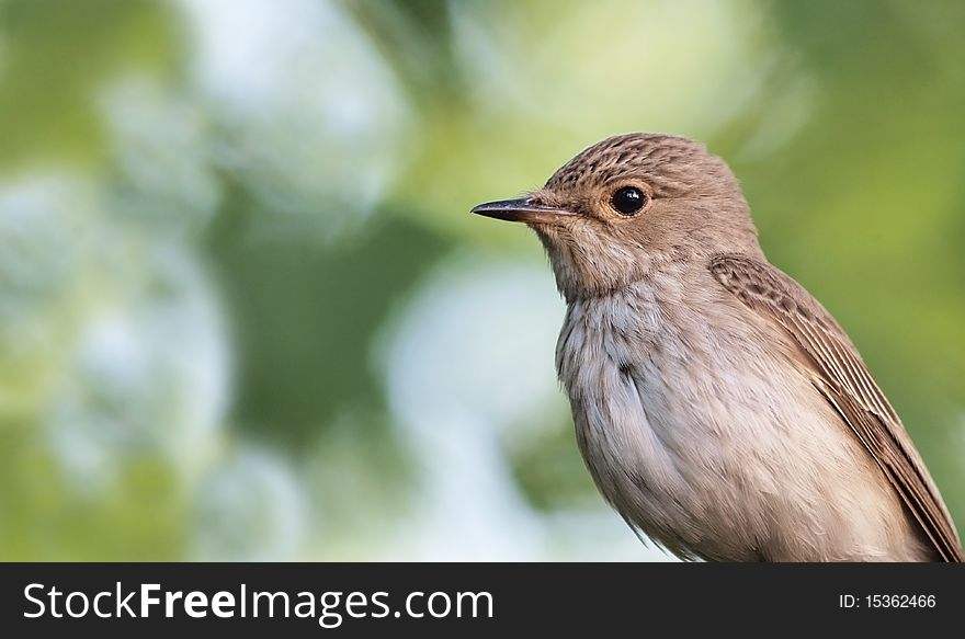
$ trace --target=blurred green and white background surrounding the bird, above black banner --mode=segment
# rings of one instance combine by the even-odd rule
[[[0,559],[660,559],[538,242],[706,141],[965,526],[965,3],[0,0]]]

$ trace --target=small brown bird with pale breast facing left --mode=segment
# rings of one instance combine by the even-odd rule
[[[613,136],[472,213],[523,222],[545,248],[576,441],[642,539],[682,560],[965,559],[854,344],[768,261],[703,144]]]

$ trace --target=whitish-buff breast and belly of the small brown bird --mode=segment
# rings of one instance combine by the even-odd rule
[[[672,267],[574,301],[559,336],[577,440],[608,501],[684,557],[916,558],[897,497],[787,338],[705,269]]]

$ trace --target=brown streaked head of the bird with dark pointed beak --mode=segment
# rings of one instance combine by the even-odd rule
[[[669,262],[760,252],[727,164],[703,145],[668,135],[608,138],[543,189],[473,213],[533,228],[567,299],[618,289]]]

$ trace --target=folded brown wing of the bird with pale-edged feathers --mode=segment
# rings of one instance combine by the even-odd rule
[[[942,559],[965,561],[949,511],[901,420],[830,313],[765,262],[717,255],[709,269],[724,288],[787,331],[816,374],[815,387],[874,458]]]

